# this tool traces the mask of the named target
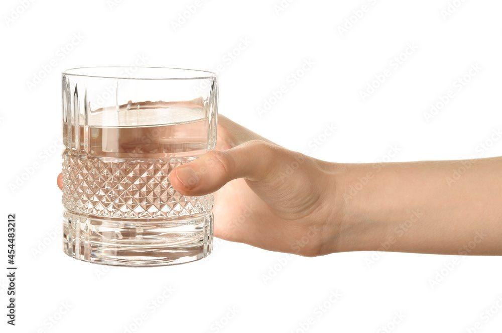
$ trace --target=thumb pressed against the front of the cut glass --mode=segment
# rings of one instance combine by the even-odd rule
[[[274,169],[281,147],[261,141],[247,141],[224,151],[209,151],[198,159],[175,168],[170,174],[173,187],[183,195],[205,195],[230,180],[266,180]]]

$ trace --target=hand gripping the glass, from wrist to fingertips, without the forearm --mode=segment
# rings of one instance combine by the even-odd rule
[[[337,228],[332,163],[287,150],[221,115],[217,133],[214,151],[170,174],[181,194],[215,192],[214,236],[308,257],[328,253],[326,231]]]

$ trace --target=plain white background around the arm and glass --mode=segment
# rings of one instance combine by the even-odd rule
[[[145,66],[215,70],[221,64],[221,114],[316,158],[375,162],[387,159],[394,145],[400,151],[392,161],[500,156],[501,142],[487,151],[478,146],[502,122],[501,2],[457,0],[458,9],[445,18],[446,0],[297,0],[279,13],[280,0],[207,0],[185,13],[190,17],[177,29],[172,22],[195,0],[48,0],[26,2],[26,9],[21,3],[4,0],[0,11],[0,268],[7,266],[8,213],[17,217],[19,267],[15,327],[6,323],[7,273],[0,274],[2,332],[118,333],[124,326],[139,332],[379,332],[382,326],[466,332],[476,322],[481,329],[469,331],[500,331],[500,257],[386,253],[368,267],[367,252],[287,257],[215,240],[208,258],[173,267],[106,269],[70,259],[61,249],[56,176],[61,71],[129,66],[140,56],[148,58]],[[356,19],[353,11],[362,5],[367,12]],[[355,23],[340,33],[346,19]],[[250,44],[239,50],[241,39]],[[398,68],[391,65],[408,43],[418,48]],[[291,86],[288,77],[309,59],[314,65]],[[481,70],[458,91],[454,81],[474,64]],[[387,69],[391,76],[363,101],[360,91]],[[43,78],[33,86],[35,76]],[[287,93],[260,116],[257,108],[281,85]],[[430,104],[450,89],[454,97],[426,122]],[[335,133],[321,145],[310,143],[327,125]],[[33,175],[12,189],[36,162]],[[444,270],[448,264],[451,271]],[[441,277],[432,287],[431,279]],[[174,289],[168,298],[164,287]],[[329,302],[332,291],[340,294],[336,302]],[[155,299],[163,304],[152,312]],[[319,311],[320,305],[329,309]],[[229,308],[238,313],[227,319]],[[497,313],[481,316],[490,309]],[[147,318],[135,326],[143,312]],[[400,312],[404,318],[394,324]]]

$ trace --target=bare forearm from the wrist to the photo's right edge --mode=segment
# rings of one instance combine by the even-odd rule
[[[502,158],[333,169],[327,251],[502,255]]]

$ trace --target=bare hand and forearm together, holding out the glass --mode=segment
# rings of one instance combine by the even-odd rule
[[[217,133],[214,151],[170,174],[181,194],[215,192],[215,237],[307,257],[502,255],[500,157],[342,164],[290,151],[221,115]]]

